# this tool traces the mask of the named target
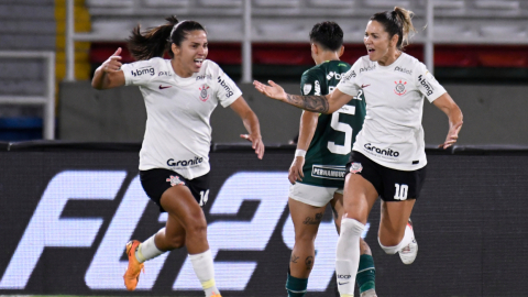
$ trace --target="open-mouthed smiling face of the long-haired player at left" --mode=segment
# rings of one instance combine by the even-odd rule
[[[173,44],[173,47],[176,45]],[[178,59],[180,70],[187,74],[186,76],[198,73],[209,52],[206,32],[202,30],[188,32],[180,46],[173,51],[175,51],[174,58]]]

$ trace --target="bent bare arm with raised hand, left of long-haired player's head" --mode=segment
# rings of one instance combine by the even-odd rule
[[[99,66],[91,79],[91,86],[98,90],[124,86],[124,74],[121,70],[121,47]]]

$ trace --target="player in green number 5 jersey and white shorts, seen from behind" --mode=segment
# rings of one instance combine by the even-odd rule
[[[343,54],[343,31],[334,22],[322,22],[310,32],[311,56],[317,66],[302,74],[304,96],[327,95],[351,68]],[[343,211],[345,164],[355,135],[365,118],[365,100],[360,91],[332,114],[304,111],[295,158],[289,168],[289,211],[295,228],[295,245],[289,262],[286,289],[289,297],[305,296],[315,260],[315,240],[327,205],[333,210],[339,232]],[[356,282],[361,297],[376,296],[375,270],[371,249],[361,240]],[[338,282],[349,282],[341,279]]]

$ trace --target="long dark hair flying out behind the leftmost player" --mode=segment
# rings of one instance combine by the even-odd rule
[[[182,45],[188,32],[195,30],[206,31],[206,28],[195,21],[179,22],[175,15],[168,16],[166,24],[150,28],[141,32],[141,25],[138,24],[132,30],[132,35],[127,40],[129,51],[138,59],[150,59],[153,57],[163,57],[166,51],[170,57],[174,57],[170,51],[170,44]]]

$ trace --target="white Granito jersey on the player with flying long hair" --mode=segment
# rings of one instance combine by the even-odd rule
[[[242,95],[233,80],[208,59],[188,78],[176,75],[169,59],[157,57],[121,69],[128,86],[140,86],[146,106],[140,170],[166,168],[188,179],[207,174],[209,119],[218,102],[228,107]]]

